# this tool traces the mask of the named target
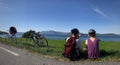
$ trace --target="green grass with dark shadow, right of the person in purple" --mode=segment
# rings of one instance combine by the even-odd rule
[[[120,61],[120,42],[100,42],[101,60]]]

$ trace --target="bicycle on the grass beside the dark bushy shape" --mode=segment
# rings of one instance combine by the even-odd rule
[[[32,39],[39,47],[48,47],[47,39],[40,32],[30,33],[28,39]],[[27,40],[26,40],[27,41]]]

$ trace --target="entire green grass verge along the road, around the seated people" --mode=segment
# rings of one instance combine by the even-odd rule
[[[18,48],[26,49],[30,52],[38,53],[41,55],[49,56],[55,59],[63,59],[62,56],[64,51],[65,40],[48,40],[49,47],[38,47],[32,41],[26,42],[26,39],[19,38],[17,43],[11,41],[5,41],[5,39],[0,38],[0,42],[8,45],[12,45]],[[100,54],[101,57],[96,61],[120,61],[120,42],[100,42]],[[82,41],[82,48],[85,48],[84,41]],[[83,58],[81,60],[88,60],[86,58],[86,50],[83,50]]]

